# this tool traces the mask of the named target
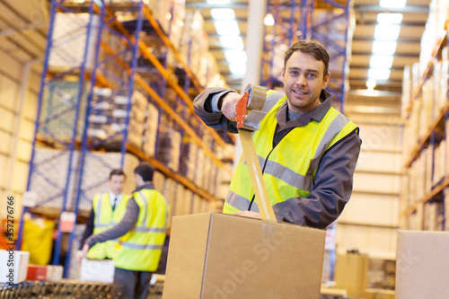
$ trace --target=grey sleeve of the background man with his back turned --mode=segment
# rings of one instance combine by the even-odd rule
[[[119,224],[115,224],[109,230],[104,231],[102,233],[93,234],[85,243],[89,245],[89,248],[92,248],[93,245],[100,242],[106,242],[108,240],[114,240],[125,233],[128,233],[130,230],[134,228],[136,225],[137,219],[139,215],[139,206],[136,203],[134,198],[129,198],[127,204],[127,212],[119,222]]]

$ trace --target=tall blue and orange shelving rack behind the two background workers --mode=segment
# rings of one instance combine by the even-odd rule
[[[174,48],[174,46],[172,45],[171,40],[169,40],[167,35],[159,26],[159,23],[154,19],[152,13],[145,6],[145,1],[129,0],[127,3],[120,1],[117,5],[114,5],[113,1],[106,1],[106,3],[107,4],[104,5],[105,1],[103,0],[86,1],[83,4],[67,2],[63,0],[51,1],[47,48],[40,85],[38,117],[36,121],[35,138],[33,141],[31,154],[30,175],[27,190],[31,190],[31,182],[35,177],[42,177],[43,180],[48,181],[49,184],[59,189],[60,193],[58,193],[53,198],[47,198],[45,201],[40,202],[40,205],[54,200],[57,197],[63,196],[63,204],[60,212],[62,213],[64,211],[70,210],[73,211],[75,215],[78,215],[78,205],[80,200],[92,199],[85,198],[84,190],[82,190],[81,188],[84,181],[84,163],[87,155],[97,150],[104,151],[106,149],[109,151],[109,141],[114,137],[117,138],[117,136],[121,136],[121,143],[119,145],[119,152],[121,153],[120,167],[123,167],[124,157],[126,153],[134,154],[139,159],[152,163],[154,167],[157,170],[163,172],[165,176],[178,181],[185,188],[190,189],[191,191],[193,191],[193,193],[198,194],[201,198],[205,198],[207,200],[216,200],[216,197],[213,194],[210,194],[205,189],[196,186],[192,181],[183,177],[179,173],[172,171],[166,165],[163,165],[163,163],[156,160],[154,157],[146,155],[142,152],[142,150],[140,150],[140,148],[138,148],[138,146],[132,145],[127,142],[131,96],[135,86],[139,90],[144,91],[146,95],[149,96],[150,102],[155,103],[157,105],[156,107],[158,107],[160,110],[163,110],[164,113],[167,113],[172,121],[175,122],[177,126],[182,128],[183,134],[188,135],[194,143],[201,147],[204,150],[205,154],[209,156],[216,164],[216,166],[221,168],[223,171],[228,170],[225,168],[225,164],[221,161],[221,159],[217,157],[216,154],[214,154],[214,148],[233,144],[233,137],[225,134],[219,136],[219,134],[217,134],[215,130],[213,130],[212,128],[208,128],[204,123],[202,123],[201,120],[193,117],[193,105],[191,99],[189,98],[187,89],[189,88],[189,85],[191,83],[197,92],[201,92],[203,90],[202,86],[198,84],[198,79],[196,78],[196,76],[193,75],[193,73],[189,69],[189,66],[187,66],[186,63],[182,61],[176,48]],[[136,27],[134,34],[129,33],[128,29],[121,22],[119,22],[118,17],[115,14],[117,13],[117,11],[119,11],[120,13],[133,14],[135,16],[134,22],[136,24]],[[53,55],[55,55],[54,51],[60,50],[60,47],[55,47],[54,37],[54,27],[57,12],[63,12],[74,16],[74,22],[77,23],[78,26],[80,25],[80,23],[82,24],[81,29],[78,28],[76,36],[85,37],[84,56],[82,59],[82,63],[79,66],[71,67],[68,70],[65,69],[63,71],[53,71],[49,67],[49,60],[52,53]],[[76,18],[78,16],[78,13],[87,13],[89,22],[83,23],[77,20]],[[97,19],[98,22],[94,22],[95,19]],[[142,26],[144,26],[145,24],[151,25],[151,28],[155,31],[157,36],[159,36],[159,38],[163,40],[163,44],[172,51],[173,56],[176,57],[180,65],[183,67],[183,71],[188,76],[188,80],[186,80],[184,88],[181,88],[179,84],[172,80],[172,78],[170,77],[171,74],[169,74],[166,67],[164,67],[163,64],[158,60],[158,58],[148,50],[147,45],[145,45],[142,40],[139,40],[139,32]],[[119,36],[119,40],[123,43],[126,49],[122,52],[115,53],[114,50],[110,48],[104,40],[102,40],[101,32],[103,31],[108,31],[113,35]],[[104,55],[106,55],[106,57],[102,57],[103,60],[101,60],[100,57],[101,51]],[[127,53],[130,55],[127,56]],[[178,98],[181,100],[181,106],[185,108],[183,109],[183,112],[181,114],[179,114],[177,110],[174,110],[171,106],[169,106],[161,96],[166,88],[164,85],[161,86],[158,92],[156,92],[154,87],[152,87],[151,84],[145,82],[145,79],[136,72],[136,57],[138,55],[141,55],[151,61],[158,74],[162,76],[163,82],[168,84],[172,88],[172,90],[176,92]],[[89,64],[90,57],[93,57],[91,64]],[[121,67],[121,70],[125,75],[123,77],[118,77],[117,75],[110,74],[110,71],[105,69],[105,67],[103,66],[107,62],[113,62],[116,66]],[[55,89],[51,89],[51,82],[65,79],[69,75],[74,77],[74,74],[77,76],[75,82],[77,82],[78,84],[78,92],[76,93],[75,100],[71,102],[71,105],[69,107],[66,107],[66,110],[57,111],[53,114],[49,113],[48,116],[45,115],[45,117],[43,117],[42,103],[44,97],[47,94],[49,94],[50,96],[53,96],[53,94],[59,95],[59,97],[64,96],[64,94],[58,94],[61,92]],[[110,90],[112,90],[112,95],[120,95],[123,97],[127,97],[128,99],[127,117],[126,123],[123,126],[123,130],[107,136],[103,140],[94,140],[88,136],[89,128],[91,125],[90,116],[92,115],[93,110],[92,98],[94,96],[94,86],[101,88],[110,88]],[[191,112],[191,116],[189,117],[189,119],[186,119],[187,110]],[[48,121],[53,119],[61,119],[61,121],[66,121],[67,113],[73,114],[73,121],[66,124],[66,127],[72,128],[71,135],[64,136],[65,139],[60,140],[60,136],[51,134],[52,132],[48,132],[45,125]],[[207,145],[203,142],[201,136],[204,133],[213,136],[212,145]],[[43,163],[50,163],[53,160],[53,157],[49,157],[44,161],[36,160],[35,153],[38,144],[48,146],[48,148],[57,148],[61,150],[57,153],[59,155],[69,155],[69,157],[66,159],[67,165],[58,165],[58,167],[66,167],[66,180],[64,183],[58,184],[57,182],[51,181],[48,179],[48,177],[45,176],[45,173],[41,173],[38,170],[38,166],[41,166]],[[115,150],[117,150],[117,146]],[[75,156],[78,159],[76,161]],[[99,158],[96,159],[98,160]],[[108,161],[102,160],[101,163],[104,165],[109,165],[110,169],[117,167],[117,165],[115,165],[115,167],[110,165]],[[92,188],[92,186],[88,186],[88,188]],[[68,206],[70,200],[74,202],[73,207]],[[18,249],[20,249],[20,244],[22,241],[23,214],[32,211],[33,209],[31,207],[25,207],[23,209],[18,235]],[[62,242],[62,233],[60,231],[60,228],[58,230],[59,233],[57,236],[57,242],[53,254],[53,264],[57,264],[59,261],[59,251]],[[64,270],[64,277],[67,276],[69,268],[68,265],[73,240],[74,232],[70,233],[69,237],[69,246],[66,253],[66,267]]]

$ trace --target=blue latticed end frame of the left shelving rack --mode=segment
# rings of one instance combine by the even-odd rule
[[[113,1],[109,4],[113,6]],[[50,206],[56,208],[58,214],[68,210],[78,215],[80,200],[92,201],[92,198],[86,198],[84,192],[105,182],[85,180],[86,160],[95,159],[108,169],[122,168],[127,148],[143,5],[140,0],[120,2],[119,8],[112,7],[115,9],[112,13],[106,9],[103,0],[86,1],[83,4],[51,1],[27,187],[27,190],[36,192],[39,198],[32,208],[48,207],[48,203],[53,203]],[[128,39],[110,26],[119,16],[115,13],[118,10],[119,14],[136,15],[134,39]],[[57,27],[63,24],[62,29]],[[125,46],[114,52],[105,41],[108,35],[115,40],[124,40],[122,44]],[[114,71],[110,70],[111,64],[114,64]],[[110,92],[98,97],[95,88],[108,89]],[[101,103],[109,104],[117,97],[126,99],[125,123],[117,123],[98,109]],[[106,118],[108,124],[116,124],[120,129],[109,136],[94,138],[89,134],[92,115]],[[112,141],[115,142],[114,151],[121,154],[119,164],[92,154],[92,150],[109,146]],[[55,170],[64,172],[54,175]],[[102,176],[106,177],[107,174],[102,173]],[[25,207],[23,213],[30,210],[31,207]],[[21,222],[19,244],[22,241],[23,216]],[[64,277],[67,277],[74,237],[75,231],[72,231],[66,251]],[[62,232],[58,228],[52,261],[56,265],[60,263],[61,242]]]

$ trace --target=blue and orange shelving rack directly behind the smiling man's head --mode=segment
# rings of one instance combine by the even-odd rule
[[[272,13],[275,24],[272,32],[267,31],[264,36],[272,34],[274,38],[265,40],[263,44],[262,73],[260,82],[270,88],[277,87],[280,82],[280,66],[283,64],[284,50],[275,53],[280,47],[288,47],[297,40],[320,41],[330,52],[330,84],[327,90],[332,93],[334,107],[343,112],[345,100],[345,80],[348,76],[348,50],[352,34],[350,18],[353,8],[352,0],[282,0],[269,1],[267,13]],[[318,13],[322,14],[319,20]],[[332,39],[330,31],[339,28],[338,34],[342,40]],[[334,32],[336,33],[336,32]],[[285,49],[286,49],[285,48]],[[282,54],[282,56],[280,56]],[[282,58],[280,60],[280,58]],[[277,72],[274,72],[274,67]],[[336,72],[337,71],[337,72]]]

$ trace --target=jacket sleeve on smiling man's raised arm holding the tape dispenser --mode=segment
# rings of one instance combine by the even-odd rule
[[[218,109],[217,103],[226,93],[234,92],[225,88],[213,87],[207,88],[201,92],[193,101],[193,109],[200,119],[211,128],[221,128],[230,133],[237,133],[235,121],[226,119],[221,110]]]

